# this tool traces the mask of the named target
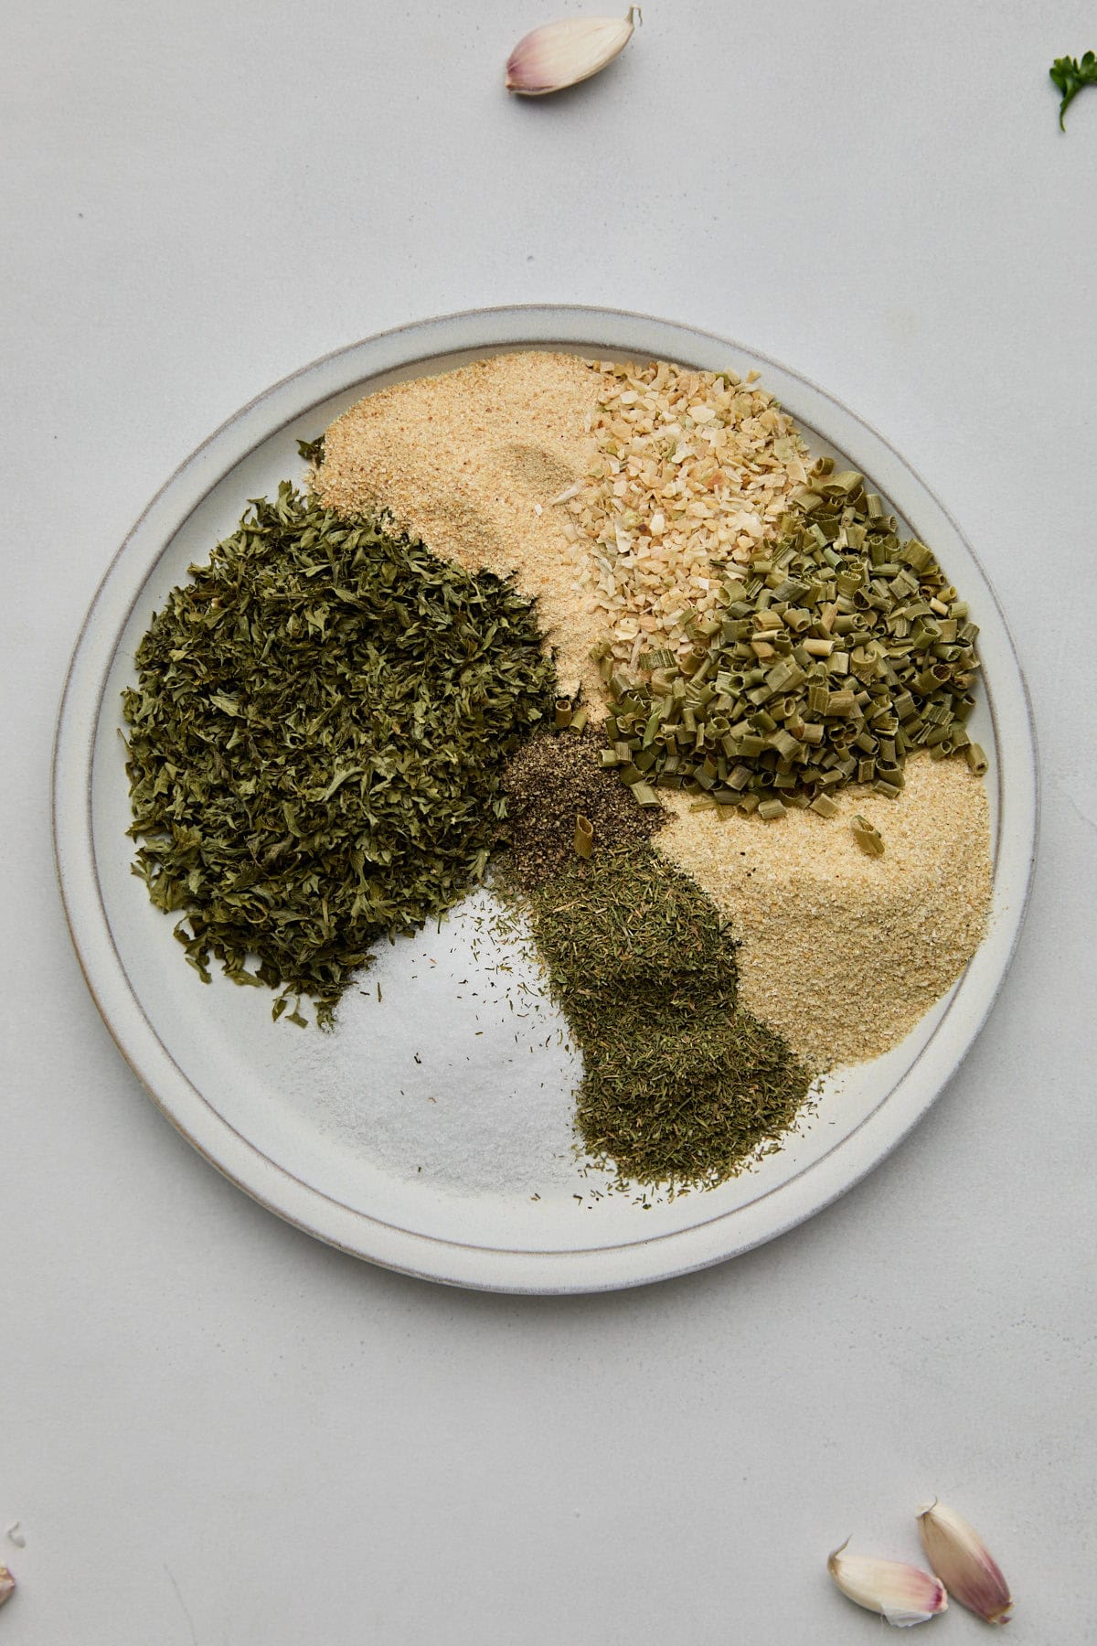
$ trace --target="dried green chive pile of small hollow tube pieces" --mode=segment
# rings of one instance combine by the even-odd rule
[[[799,494],[776,550],[722,584],[719,612],[687,619],[684,658],[645,652],[638,681],[602,662],[600,759],[641,803],[656,785],[763,818],[789,805],[826,815],[842,783],[895,797],[911,749],[962,749],[979,769],[964,729],[979,629],[862,476],[831,471]]]

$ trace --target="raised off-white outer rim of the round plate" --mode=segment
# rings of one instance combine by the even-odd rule
[[[648,334],[661,332],[668,339],[681,339],[681,347],[678,351],[669,347],[656,351],[646,346],[636,347],[635,339],[612,342],[610,334],[615,329],[618,332],[630,329]],[[763,369],[768,367],[780,377],[803,387],[809,397],[816,397],[827,412],[837,413],[839,423],[845,421],[847,425],[842,439],[835,436],[832,425],[824,425],[817,430],[824,438],[834,438],[834,443],[845,446],[845,449],[857,449],[859,438],[867,439],[870,446],[875,443],[890,461],[898,464],[898,469],[913,482],[923,499],[937,510],[947,530],[975,566],[982,583],[980,593],[987,596],[988,602],[987,614],[993,614],[998,639],[1005,644],[1005,652],[1013,665],[1011,678],[995,680],[993,686],[995,695],[1005,700],[1005,708],[1010,711],[1008,844],[1013,872],[1020,871],[1023,876],[1021,895],[1007,914],[1000,915],[997,925],[995,937],[1000,948],[1005,937],[1005,950],[998,956],[992,979],[982,983],[979,989],[977,1011],[960,1029],[954,1055],[947,1053],[944,1060],[939,1055],[928,1057],[937,1039],[941,1027],[937,1025],[916,1063],[900,1076],[896,1086],[860,1126],[821,1160],[804,1167],[794,1179],[776,1185],[747,1207],[732,1208],[701,1225],[668,1231],[651,1239],[632,1241],[625,1246],[613,1243],[581,1251],[531,1253],[469,1246],[382,1223],[296,1179],[242,1137],[174,1063],[133,996],[113,946],[99,894],[90,828],[94,765],[94,736],[90,732],[99,724],[105,673],[117,652],[118,637],[133,599],[174,532],[230,469],[281,428],[304,416],[312,405],[319,405],[357,384],[365,384],[386,370],[406,370],[416,362],[446,354],[475,354],[477,349],[493,351],[500,346],[521,349],[559,344],[571,349],[604,349],[607,354],[632,351],[689,359],[689,342],[696,344],[697,341],[715,344],[730,354],[743,354]],[[363,356],[367,360],[370,356],[390,357],[360,365]],[[349,370],[352,365],[355,369]],[[339,374],[339,382],[324,384],[308,400],[299,398],[299,390],[306,384],[316,387],[332,372]],[[766,384],[766,387],[771,385]],[[270,418],[275,412],[280,415],[271,423]],[[804,421],[809,420],[804,418]],[[847,444],[850,433],[855,436],[854,448]],[[243,443],[242,436],[248,435],[255,435],[255,438]],[[219,472],[209,477],[206,467],[211,459],[222,454],[224,464]],[[863,454],[859,451],[859,456]],[[183,507],[184,504],[186,507]],[[155,550],[151,555],[150,548]],[[130,591],[118,621],[104,621],[104,616],[110,614],[117,601],[125,596],[122,579],[132,566],[140,570],[137,593]],[[982,629],[987,630],[987,622],[982,624]],[[100,630],[105,639],[102,639]],[[97,672],[99,690],[82,691],[86,680],[95,685]],[[998,742],[1002,739],[998,714],[995,714],[995,739]],[[54,731],[51,825],[64,915],[89,993],[122,1057],[151,1100],[211,1165],[250,1198],[304,1233],[382,1267],[479,1290],[559,1295],[613,1290],[671,1279],[740,1256],[824,1210],[898,1147],[941,1096],[970,1050],[1016,953],[1031,892],[1039,833],[1039,762],[1028,685],[993,584],[952,514],[886,436],[880,435],[829,390],[737,339],[630,309],[571,303],[521,303],[461,309],[408,321],[317,356],[248,400],[183,459],[145,505],[112,556],[76,639]],[[97,930],[94,922],[89,925],[89,910],[92,915],[97,912],[102,930]],[[937,1053],[939,1050],[937,1047]],[[916,1065],[923,1060],[926,1060],[923,1078],[911,1081]],[[934,1068],[934,1063],[941,1067]],[[928,1078],[924,1078],[926,1075]],[[906,1093],[905,1086],[910,1086]],[[196,1100],[204,1114],[196,1109]],[[780,1211],[773,1216],[778,1203]]]

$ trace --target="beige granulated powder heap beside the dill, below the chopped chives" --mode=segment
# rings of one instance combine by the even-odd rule
[[[816,1070],[896,1045],[957,979],[990,907],[990,818],[964,760],[910,759],[898,800],[850,787],[837,815],[775,823],[691,811],[668,797],[655,844],[725,912],[742,940],[740,1002]],[[868,858],[860,811],[883,835]]]

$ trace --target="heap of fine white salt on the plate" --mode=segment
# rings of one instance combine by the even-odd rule
[[[357,984],[332,1034],[309,1029],[294,1052],[308,1049],[331,1128],[372,1165],[451,1193],[581,1182],[582,1058],[520,915],[479,890],[441,930],[378,945]]]

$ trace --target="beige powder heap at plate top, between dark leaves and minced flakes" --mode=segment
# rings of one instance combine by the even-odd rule
[[[344,515],[385,510],[469,571],[513,573],[556,650],[561,690],[592,714],[590,649],[604,616],[576,597],[567,515],[553,499],[586,479],[602,377],[574,354],[498,354],[368,395],[327,430],[316,476]]]

